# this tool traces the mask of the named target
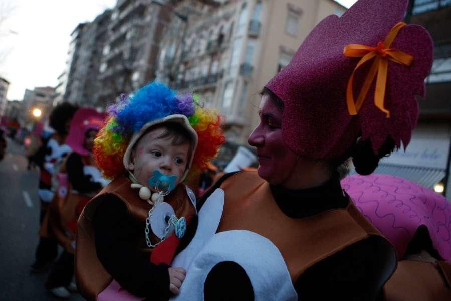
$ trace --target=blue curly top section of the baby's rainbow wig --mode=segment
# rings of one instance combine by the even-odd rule
[[[159,82],[145,85],[128,101],[128,105],[117,112],[116,119],[133,133],[138,132],[148,122],[171,115],[177,110],[178,104],[175,92]]]

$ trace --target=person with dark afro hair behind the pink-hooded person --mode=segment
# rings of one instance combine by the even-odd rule
[[[65,144],[65,140],[69,132],[72,117],[76,111],[77,107],[68,102],[58,104],[52,110],[49,116],[49,126],[54,132],[43,143],[41,149],[38,150],[39,156],[35,158],[39,162],[40,168],[38,186],[38,195],[41,203],[40,226],[54,197],[52,177],[57,172],[56,167],[61,164],[64,157],[71,151],[70,147]],[[57,240],[52,234],[48,236],[40,235],[35,253],[35,262],[31,265],[31,271],[42,272],[47,270],[58,255],[57,247]]]

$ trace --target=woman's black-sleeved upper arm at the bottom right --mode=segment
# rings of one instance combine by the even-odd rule
[[[388,241],[369,237],[309,268],[295,288],[303,300],[379,300],[393,259]]]

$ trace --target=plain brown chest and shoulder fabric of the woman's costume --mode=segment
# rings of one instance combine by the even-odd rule
[[[256,172],[238,173],[220,187],[225,191],[225,200],[217,232],[243,229],[271,240],[282,253],[293,283],[315,263],[370,236],[383,238],[385,252],[380,256],[388,254],[395,260],[391,244],[359,213],[352,202],[343,210],[292,219],[280,211],[268,182]],[[387,278],[394,267],[395,263],[388,264],[387,260]]]

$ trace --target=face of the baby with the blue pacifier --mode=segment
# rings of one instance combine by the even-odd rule
[[[165,131],[165,127],[159,127],[146,133],[136,144],[130,159],[129,168],[136,180],[152,191],[155,189],[147,181],[153,176],[153,171],[177,176],[177,185],[188,162],[189,143],[172,145],[172,137],[158,138]]]

